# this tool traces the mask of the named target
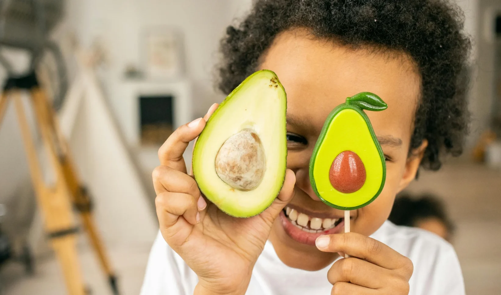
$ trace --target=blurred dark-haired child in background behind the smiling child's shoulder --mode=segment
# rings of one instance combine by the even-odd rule
[[[404,226],[415,226],[431,231],[447,241],[451,240],[454,225],[447,217],[443,203],[432,194],[412,196],[400,193],[388,220]]]

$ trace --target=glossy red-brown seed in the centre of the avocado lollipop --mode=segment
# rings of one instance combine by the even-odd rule
[[[336,190],[352,193],[359,190],[365,182],[365,166],[358,154],[345,150],[332,162],[329,179]]]

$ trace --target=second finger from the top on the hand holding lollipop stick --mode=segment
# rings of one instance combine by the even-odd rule
[[[377,289],[390,283],[391,271],[365,260],[349,257],[337,260],[327,272],[332,284],[351,282],[357,285]]]

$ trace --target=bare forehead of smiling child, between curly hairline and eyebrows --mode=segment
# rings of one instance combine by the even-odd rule
[[[260,68],[277,73],[287,92],[288,115],[308,120],[316,132],[346,97],[369,91],[388,104],[384,111],[366,112],[377,135],[410,139],[420,77],[403,54],[355,51],[294,30],[277,36]]]

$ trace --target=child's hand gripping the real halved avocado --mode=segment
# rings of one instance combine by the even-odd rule
[[[294,172],[288,170],[280,194],[263,213],[231,217],[206,202],[182,157],[214,111],[180,126],[158,151],[161,166],[153,171],[160,231],[198,275],[195,294],[243,294],[275,218],[292,199]]]

